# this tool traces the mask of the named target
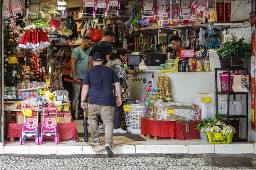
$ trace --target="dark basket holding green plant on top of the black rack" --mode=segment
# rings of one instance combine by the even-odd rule
[[[243,68],[244,55],[226,55],[220,60],[221,68]]]

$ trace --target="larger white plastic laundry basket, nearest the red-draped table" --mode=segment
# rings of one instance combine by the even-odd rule
[[[130,121],[131,133],[134,135],[141,134],[141,117],[143,117],[144,106],[141,104],[129,105],[130,108]]]

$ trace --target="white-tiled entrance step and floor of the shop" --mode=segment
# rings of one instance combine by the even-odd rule
[[[76,120],[78,132],[84,132],[83,120]],[[88,129],[90,132],[90,129]],[[104,132],[104,131],[100,131]],[[116,154],[134,153],[163,153],[163,154],[256,154],[255,144],[250,142],[239,142],[231,144],[210,144],[200,139],[177,140],[169,138],[147,138],[142,136],[145,141],[136,141],[140,145],[115,146],[113,150]],[[36,145],[34,140],[27,140],[20,145],[5,141],[4,146],[0,143],[0,154],[106,154],[106,150],[93,152],[92,146],[84,142],[60,141],[58,145],[52,140],[44,140],[41,145]]]

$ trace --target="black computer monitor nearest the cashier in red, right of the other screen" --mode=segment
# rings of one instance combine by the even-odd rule
[[[147,54],[147,65],[160,66],[160,64],[164,64],[166,56],[166,54]]]

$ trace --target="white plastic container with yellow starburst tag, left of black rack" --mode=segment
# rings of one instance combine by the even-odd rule
[[[212,100],[212,103],[206,103],[205,98],[210,98]],[[212,117],[213,120],[215,120],[215,105],[213,103],[213,95],[212,94],[196,94],[195,95],[195,101],[194,104],[196,104],[197,107],[202,109],[201,111],[201,117],[200,120],[209,119]]]

